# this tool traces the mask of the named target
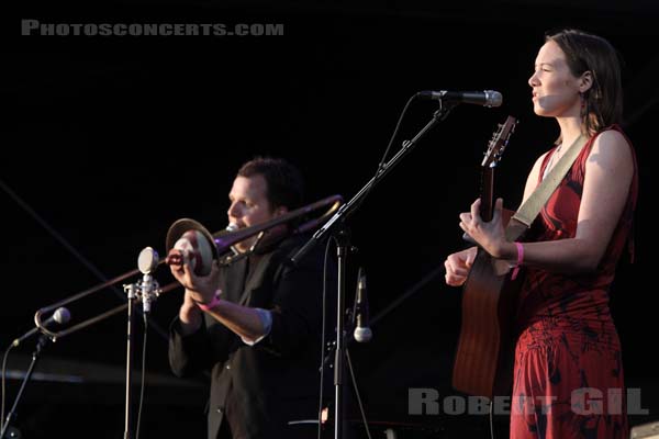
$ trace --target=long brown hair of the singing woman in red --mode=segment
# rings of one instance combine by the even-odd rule
[[[570,71],[576,77],[590,71],[592,87],[583,93],[582,126],[589,135],[612,124],[622,123],[623,86],[621,57],[617,50],[601,36],[574,29],[548,33],[566,54]]]

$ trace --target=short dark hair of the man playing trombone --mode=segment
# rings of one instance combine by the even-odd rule
[[[260,175],[268,185],[266,196],[270,209],[279,206],[290,211],[302,206],[304,201],[304,182],[302,175],[293,165],[281,158],[256,157],[245,162],[238,170],[239,177]]]

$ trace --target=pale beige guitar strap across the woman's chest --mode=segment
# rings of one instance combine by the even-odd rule
[[[535,217],[538,216],[538,213],[540,213],[540,209],[543,209],[545,203],[547,203],[547,200],[549,200],[549,196],[554,193],[558,187],[558,183],[560,183],[563,177],[568,173],[568,170],[572,167],[572,164],[574,164],[577,156],[579,156],[579,153],[581,153],[581,149],[585,145],[587,140],[587,137],[581,134],[572,143],[572,145],[570,145],[568,150],[549,171],[547,177],[543,179],[540,184],[538,184],[524,204],[520,206],[511,219],[516,219],[518,223],[522,223],[524,226],[526,226],[526,228],[530,227],[530,224],[534,222]],[[511,222],[511,225],[512,223],[513,222]],[[516,236],[514,236],[516,234],[516,228],[517,227],[514,226],[506,228],[506,237],[509,240],[516,238]]]

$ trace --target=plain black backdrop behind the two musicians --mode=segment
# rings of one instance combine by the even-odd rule
[[[500,91],[498,109],[460,105],[406,156],[348,219],[368,274],[371,315],[407,297],[351,347],[369,419],[409,423],[406,437],[485,437],[485,416],[409,416],[407,389],[453,395],[459,290],[437,271],[460,248],[457,215],[478,194],[479,164],[498,123],[521,120],[500,164],[496,192],[516,207],[534,159],[558,134],[533,114],[526,81],[544,32],[576,26],[607,37],[625,60],[626,131],[641,179],[636,263],[612,293],[626,380],[659,418],[652,285],[654,123],[659,115],[659,10],[650,2],[466,1],[23,3],[3,21],[0,206],[4,281],[0,345],[30,329],[37,308],[136,267],[139,250],[164,251],[168,227],[192,217],[226,224],[227,191],[255,155],[282,156],[308,180],[308,200],[351,198],[371,178],[403,105],[420,90]],[[21,36],[21,19],[49,23],[282,23],[279,36]],[[398,149],[436,104],[415,102]],[[64,245],[63,243],[66,243]],[[78,256],[74,255],[74,250]],[[432,275],[435,273],[435,275]],[[166,270],[157,278],[170,281]],[[411,293],[413,291],[413,293]],[[71,304],[74,322],[123,302],[104,291]],[[181,292],[163,295],[149,330],[142,437],[200,437],[204,386],[174,387],[166,330]],[[123,435],[125,315],[48,346],[37,371],[87,384],[35,380],[18,425],[25,437]],[[136,361],[142,354],[136,337]],[[34,340],[12,351],[24,370]],[[13,367],[11,367],[13,364]],[[136,362],[137,367],[138,363]],[[40,369],[41,368],[41,369]],[[108,369],[103,369],[108,368]],[[93,379],[92,379],[93,378]],[[10,380],[8,403],[18,380]],[[351,419],[356,419],[357,412]],[[467,421],[466,421],[467,420]],[[502,429],[505,425],[501,420]],[[416,436],[414,436],[416,435]]]

